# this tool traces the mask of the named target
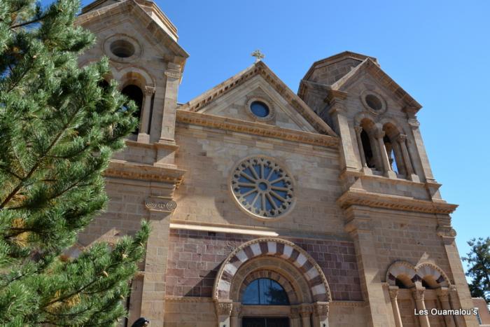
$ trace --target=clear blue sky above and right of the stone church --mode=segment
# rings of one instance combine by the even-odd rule
[[[50,1],[46,1],[50,2]],[[411,94],[461,256],[490,236],[490,1],[156,1],[190,54],[179,102],[245,69],[255,49],[293,91],[344,50],[377,57]],[[83,1],[88,4],[90,1]]]

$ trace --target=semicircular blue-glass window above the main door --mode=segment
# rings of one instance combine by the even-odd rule
[[[244,305],[289,305],[288,294],[276,281],[259,278],[246,286],[241,303]]]

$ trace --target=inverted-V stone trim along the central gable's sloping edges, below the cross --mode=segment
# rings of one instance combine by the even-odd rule
[[[204,106],[213,102],[217,97],[230,92],[238,85],[243,84],[245,81],[248,81],[253,76],[260,75],[265,79],[276,92],[286,99],[286,101],[293,106],[293,108],[300,113],[308,123],[311,124],[318,132],[322,134],[331,135],[332,137],[337,137],[337,134],[327,125],[316,113],[314,113],[311,108],[307,104],[303,102],[303,100],[298,97],[295,92],[290,90],[286,84],[279,79],[279,77],[274,74],[266,64],[262,61],[255,62],[251,67],[248,67],[244,71],[241,71],[237,75],[232,78],[228,78],[228,80],[223,83],[216,85],[211,90],[204,92],[199,97],[190,100],[186,104],[180,107],[181,110],[186,111],[200,111]]]

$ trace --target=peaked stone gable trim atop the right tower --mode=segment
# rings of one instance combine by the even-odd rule
[[[363,60],[361,64],[357,67],[349,71],[344,77],[340,78],[339,81],[330,85],[332,90],[345,90],[346,85],[352,83],[354,81],[358,81],[358,76],[366,71],[370,74],[375,81],[378,81],[383,85],[387,90],[391,91],[395,96],[395,99],[398,99],[400,102],[405,104],[405,106],[411,107],[412,109],[421,109],[421,104],[416,102],[416,100],[411,97],[405,90],[401,88],[393,79],[388,76],[378,65],[376,62],[373,62],[369,57]]]

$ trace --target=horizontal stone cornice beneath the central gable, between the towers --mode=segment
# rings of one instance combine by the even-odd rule
[[[213,116],[205,113],[193,113],[190,111],[182,111],[180,109],[177,110],[177,122],[218,128],[220,130],[230,130],[232,132],[254,134],[262,137],[285,139],[287,141],[313,144],[316,146],[325,146],[330,148],[337,148],[339,144],[339,139],[328,135],[302,132],[299,130],[289,130],[287,128],[267,125],[264,123],[247,122],[235,118]]]

